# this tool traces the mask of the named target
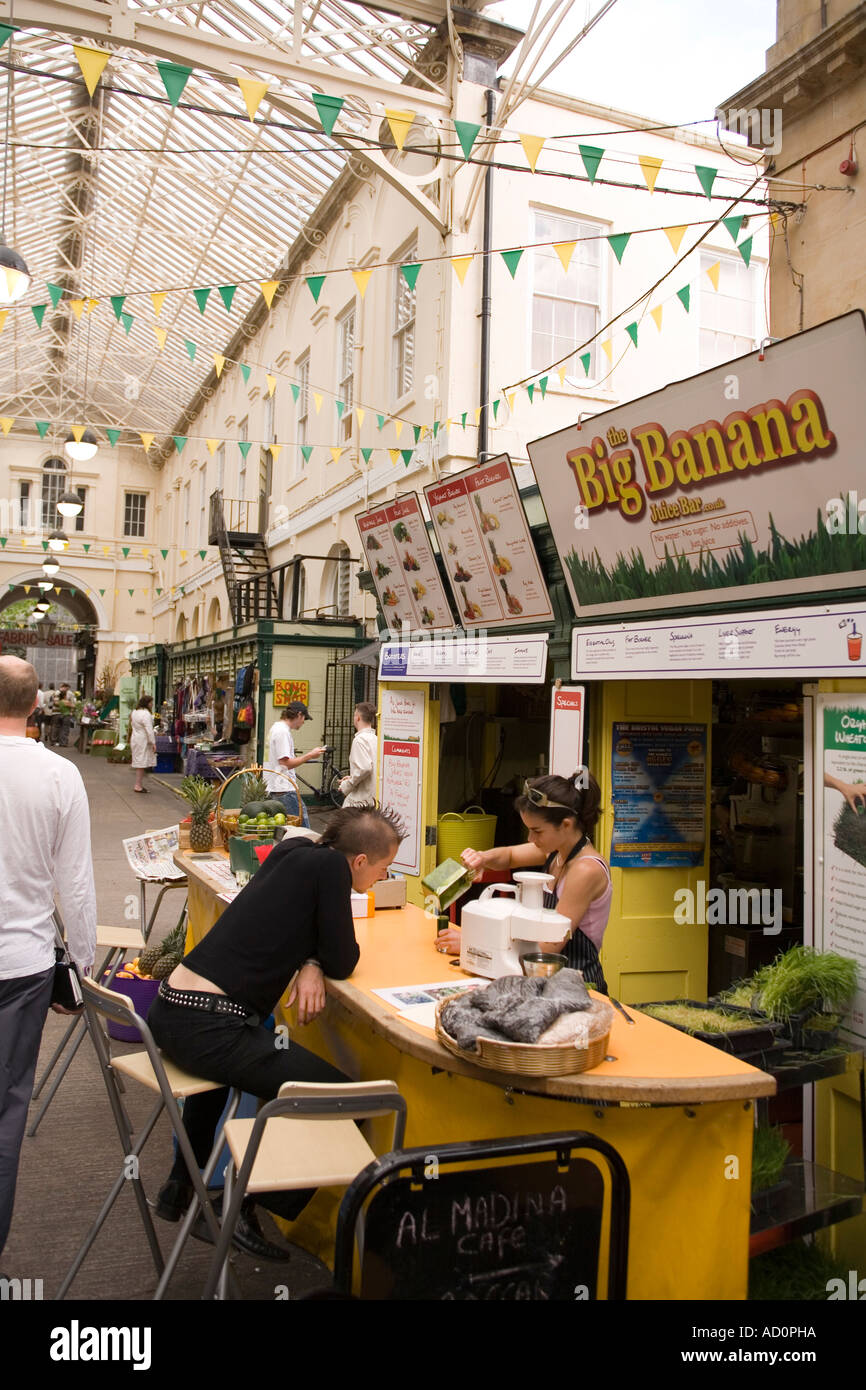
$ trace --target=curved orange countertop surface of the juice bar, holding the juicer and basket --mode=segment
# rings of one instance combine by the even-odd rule
[[[190,859],[183,851],[175,859],[203,888],[214,894],[218,891],[214,880],[207,877],[207,860]],[[361,958],[349,980],[327,980],[329,1006],[349,1011],[393,1047],[434,1068],[499,1087],[573,1099],[671,1105],[751,1099],[776,1093],[771,1076],[638,1013],[630,1005],[626,1009],[634,1017],[634,1026],[614,1012],[607,1047],[612,1061],[591,1072],[535,1077],[474,1066],[443,1048],[431,1029],[402,1019],[395,1008],[374,994],[377,988],[471,979],[436,951],[434,919],[411,905],[381,909],[373,917],[356,917],[354,933]]]

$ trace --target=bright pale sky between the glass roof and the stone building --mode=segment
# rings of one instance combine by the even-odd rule
[[[574,0],[557,42],[601,3]],[[534,0],[496,0],[485,13],[525,28],[532,10]],[[709,120],[763,72],[774,42],[776,0],[617,0],[545,86],[663,121]]]

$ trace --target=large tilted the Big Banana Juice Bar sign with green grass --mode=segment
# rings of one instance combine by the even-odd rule
[[[845,314],[528,445],[581,617],[866,582],[865,329]]]

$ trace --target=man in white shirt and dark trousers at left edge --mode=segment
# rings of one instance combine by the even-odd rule
[[[51,998],[56,894],[82,973],[96,949],[88,795],[74,763],[26,737],[36,687],[29,662],[0,656],[0,1251]]]

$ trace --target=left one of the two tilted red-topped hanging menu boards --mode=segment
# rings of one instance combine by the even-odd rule
[[[452,628],[455,620],[417,493],[363,512],[356,521],[388,628]]]

